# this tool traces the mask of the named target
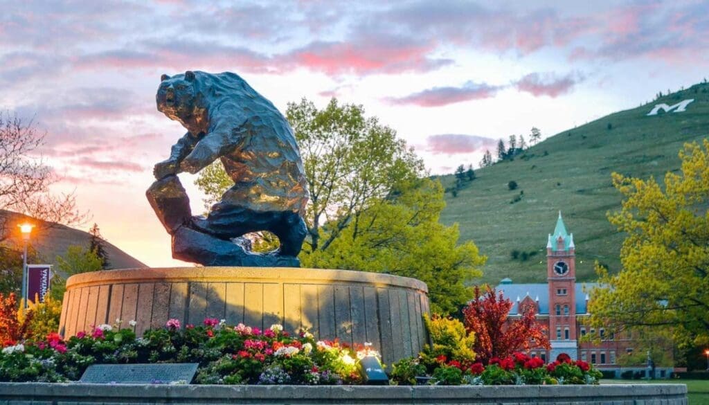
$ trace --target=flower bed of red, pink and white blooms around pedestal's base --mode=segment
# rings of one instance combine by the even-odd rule
[[[562,359],[545,365],[523,353],[474,362],[474,353],[435,345],[418,357],[393,365],[393,384],[594,384],[600,372],[586,362]],[[164,328],[137,338],[132,329],[96,326],[62,340],[8,341],[0,352],[0,382],[67,382],[92,364],[196,362],[196,384],[362,384],[357,361],[378,355],[367,343],[350,347],[316,340],[302,331],[289,335],[280,325],[265,331],[242,324],[227,326],[208,318],[201,326],[181,327],[171,319]]]

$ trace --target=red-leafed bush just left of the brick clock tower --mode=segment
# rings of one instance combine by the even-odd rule
[[[522,317],[508,321],[512,306],[512,301],[502,292],[496,294],[488,287],[485,294],[481,294],[479,287],[475,288],[474,299],[463,309],[463,315],[465,327],[475,333],[476,360],[488,364],[493,357],[510,357],[520,350],[549,350],[546,328],[535,321],[535,307],[523,306]]]

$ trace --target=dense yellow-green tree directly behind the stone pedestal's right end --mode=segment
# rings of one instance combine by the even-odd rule
[[[486,257],[471,241],[458,244],[457,225],[439,222],[445,206],[440,182],[415,179],[362,213],[328,250],[301,253],[304,266],[414,277],[428,284],[435,313],[457,311],[472,296]],[[327,230],[328,227],[325,227]]]

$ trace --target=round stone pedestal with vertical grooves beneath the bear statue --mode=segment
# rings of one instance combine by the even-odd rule
[[[138,335],[168,319],[204,318],[316,338],[372,343],[387,364],[418,354],[428,341],[428,287],[417,279],[347,270],[270,267],[176,267],[105,270],[67,280],[60,334],[108,323]]]

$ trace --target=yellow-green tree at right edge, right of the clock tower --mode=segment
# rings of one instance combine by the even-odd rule
[[[679,343],[709,340],[709,140],[684,145],[681,172],[664,187],[613,174],[623,194],[610,222],[627,234],[623,268],[598,267],[604,288],[593,289],[589,311],[596,327],[674,331]]]

